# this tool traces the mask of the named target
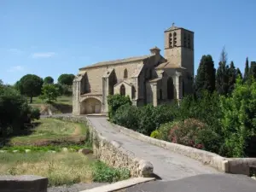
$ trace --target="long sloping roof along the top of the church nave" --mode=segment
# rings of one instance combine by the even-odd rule
[[[102,67],[102,66],[108,66],[108,65],[116,65],[116,64],[125,63],[125,62],[143,61],[144,59],[147,59],[151,56],[154,56],[154,55],[142,55],[142,56],[136,56],[136,57],[129,57],[129,58],[125,58],[125,59],[113,60],[113,61],[97,62],[93,65],[82,67],[82,68],[80,68],[80,70],[87,69],[90,67]]]

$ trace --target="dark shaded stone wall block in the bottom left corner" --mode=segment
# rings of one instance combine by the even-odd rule
[[[0,176],[0,192],[47,192],[48,178],[35,175]]]

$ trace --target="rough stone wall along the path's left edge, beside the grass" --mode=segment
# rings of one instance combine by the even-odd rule
[[[127,168],[131,172],[131,177],[152,176],[153,165],[150,162],[137,158],[135,154],[120,146],[119,143],[103,137],[102,133],[97,131],[86,117],[61,116],[55,117],[55,119],[67,120],[74,123],[86,123],[90,129],[90,142],[92,143],[93,153],[108,166]]]

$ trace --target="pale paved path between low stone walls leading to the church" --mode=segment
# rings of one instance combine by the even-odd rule
[[[204,166],[197,160],[125,136],[115,131],[113,125],[108,122],[106,117],[91,116],[88,118],[92,125],[102,132],[104,137],[118,142],[137,157],[150,161],[154,166],[154,173],[164,181],[172,181],[200,174],[223,174],[212,167]]]

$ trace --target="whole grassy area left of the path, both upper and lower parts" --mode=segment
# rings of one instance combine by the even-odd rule
[[[48,177],[49,186],[111,183],[130,177],[126,169],[108,167],[93,154],[77,152],[79,148],[91,148],[86,125],[60,119],[40,119],[33,125],[0,148],[0,175]]]

